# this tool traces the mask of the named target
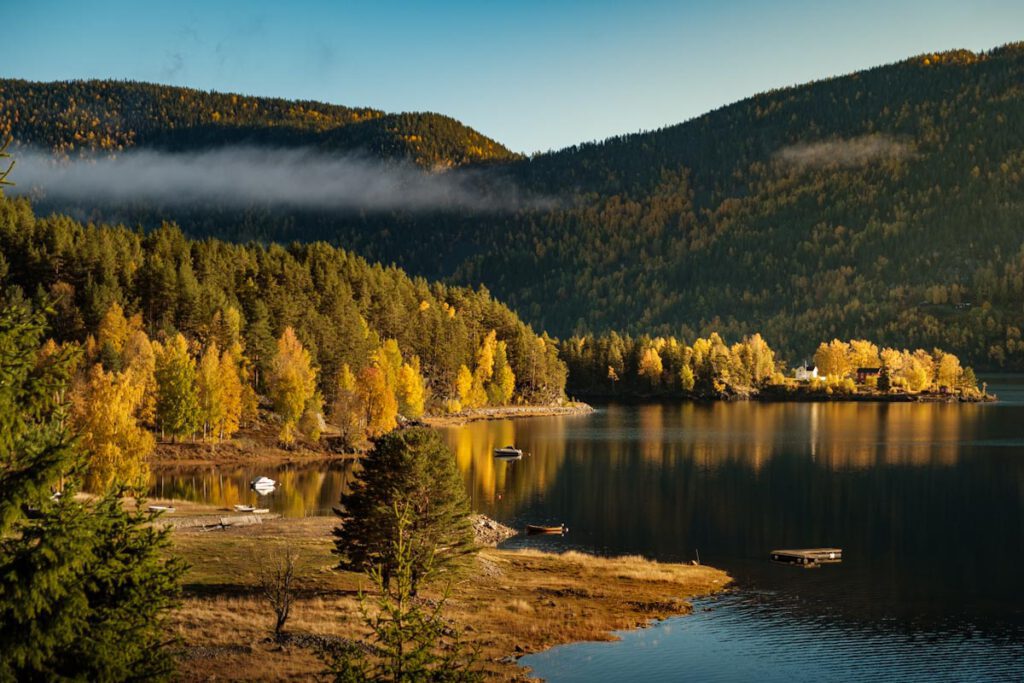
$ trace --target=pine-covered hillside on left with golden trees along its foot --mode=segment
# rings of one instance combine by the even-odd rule
[[[486,290],[322,243],[195,241],[173,226],[40,218],[28,201],[0,198],[0,281],[6,300],[51,310],[54,348],[80,347],[79,404],[113,404],[124,379],[127,412],[165,435],[229,435],[260,396],[286,441],[295,427],[318,433],[321,415],[358,441],[399,414],[563,396],[554,340]]]

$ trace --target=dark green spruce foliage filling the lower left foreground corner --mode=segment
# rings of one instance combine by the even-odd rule
[[[121,492],[76,499],[84,457],[60,398],[72,351],[38,354],[42,331],[41,315],[0,310],[0,680],[167,679],[185,567]]]

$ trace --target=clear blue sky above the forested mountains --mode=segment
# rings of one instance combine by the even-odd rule
[[[447,114],[518,152],[769,88],[1024,40],[1021,0],[7,0],[0,75]]]

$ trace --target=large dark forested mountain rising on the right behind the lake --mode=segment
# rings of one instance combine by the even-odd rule
[[[53,146],[35,130],[11,129]],[[919,55],[479,174],[550,201],[162,217],[195,234],[326,240],[482,283],[560,336],[760,332],[791,364],[823,339],[866,337],[1024,369],[1022,44]]]

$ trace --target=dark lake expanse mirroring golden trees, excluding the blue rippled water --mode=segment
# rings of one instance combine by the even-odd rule
[[[871,403],[609,405],[578,418],[446,432],[474,506],[559,539],[515,539],[688,560],[746,585],[792,572],[772,548],[840,546],[802,599],[861,618],[1005,613],[1024,561],[1024,407]],[[515,443],[522,461],[495,461]],[[842,580],[836,581],[841,575]],[[851,598],[851,595],[855,598]],[[1011,600],[1019,614],[1021,600]]]

